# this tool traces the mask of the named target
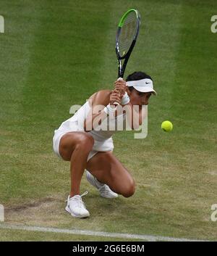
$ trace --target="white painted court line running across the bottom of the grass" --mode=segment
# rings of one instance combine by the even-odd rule
[[[45,228],[45,227],[38,227],[38,226],[12,225],[7,223],[1,223],[0,228],[24,230],[24,231],[52,232],[52,233],[59,233],[59,234],[73,234],[73,235],[83,235],[83,236],[116,237],[119,239],[141,239],[143,241],[202,241],[202,240],[196,240],[196,239],[179,239],[179,238],[168,237],[168,236],[149,236],[149,235],[139,235],[139,234],[109,233],[109,232],[65,229],[65,228]]]

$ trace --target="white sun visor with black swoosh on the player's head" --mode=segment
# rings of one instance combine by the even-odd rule
[[[152,92],[154,95],[157,95],[156,91],[153,89],[153,81],[145,78],[141,80],[127,81],[127,86],[133,86],[137,91],[140,92]]]

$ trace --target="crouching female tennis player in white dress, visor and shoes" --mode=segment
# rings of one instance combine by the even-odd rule
[[[102,90],[90,96],[75,115],[54,131],[54,152],[62,160],[70,161],[71,191],[65,210],[76,218],[90,216],[82,202],[88,192],[80,195],[85,169],[87,180],[98,189],[101,197],[115,198],[118,194],[131,197],[135,193],[135,181],[129,170],[112,153],[111,137],[119,121],[127,119],[132,129],[142,124],[145,118],[142,105],[147,105],[150,95],[156,91],[152,78],[142,72],[132,73],[127,82],[116,80],[114,84],[114,90]],[[132,111],[119,115],[116,103],[128,105]],[[138,111],[134,106],[138,106]],[[139,123],[138,127],[134,127],[135,123]],[[98,129],[99,125],[101,129]]]

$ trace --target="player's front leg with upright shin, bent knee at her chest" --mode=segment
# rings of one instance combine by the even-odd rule
[[[80,194],[80,182],[93,144],[93,137],[88,133],[69,132],[61,137],[59,154],[64,160],[70,161],[70,197]]]

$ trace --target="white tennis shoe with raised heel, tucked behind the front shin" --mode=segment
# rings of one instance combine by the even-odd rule
[[[116,198],[119,195],[112,191],[108,185],[99,182],[88,170],[86,171],[86,178],[89,183],[95,186],[101,194],[101,197],[105,198]]]

